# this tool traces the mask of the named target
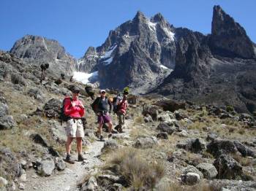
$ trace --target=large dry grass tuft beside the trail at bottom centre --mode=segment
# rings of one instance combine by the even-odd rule
[[[116,166],[116,173],[121,174],[135,190],[140,187],[153,189],[164,176],[164,166],[157,161],[147,161],[138,149],[119,149],[110,158],[110,165]]]

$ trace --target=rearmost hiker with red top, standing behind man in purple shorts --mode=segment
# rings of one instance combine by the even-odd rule
[[[128,101],[127,101],[127,95],[129,94],[128,91],[124,91],[123,98],[121,100],[117,101],[118,111],[118,126],[117,129],[119,133],[122,133],[122,127],[124,125],[125,115],[127,114],[127,107],[128,107]]]

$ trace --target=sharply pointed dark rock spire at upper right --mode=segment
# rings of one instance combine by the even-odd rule
[[[252,41],[243,27],[227,15],[220,6],[214,6],[211,23],[211,48],[218,55],[255,58]]]

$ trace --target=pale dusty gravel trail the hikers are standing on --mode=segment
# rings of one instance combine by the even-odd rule
[[[129,126],[132,120],[127,120],[125,125],[125,132],[115,135],[124,135],[129,137]],[[25,190],[39,190],[39,191],[78,191],[78,184],[83,181],[87,174],[94,170],[94,166],[102,165],[99,159],[101,149],[104,146],[103,141],[94,141],[86,150],[86,163],[75,161],[75,164],[67,164],[64,171],[56,171],[48,177],[41,177],[36,174],[34,170],[27,171],[27,182]],[[77,155],[72,155],[73,159],[77,159]]]

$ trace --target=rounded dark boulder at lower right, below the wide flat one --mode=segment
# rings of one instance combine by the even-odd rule
[[[214,160],[214,166],[218,171],[219,179],[236,179],[243,175],[242,166],[232,157],[222,154]]]

